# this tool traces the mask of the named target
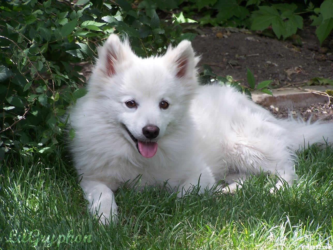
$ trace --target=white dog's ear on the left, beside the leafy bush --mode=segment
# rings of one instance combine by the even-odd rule
[[[107,76],[117,72],[117,66],[134,56],[127,39],[122,42],[115,34],[111,34],[102,47],[98,49],[98,68]]]

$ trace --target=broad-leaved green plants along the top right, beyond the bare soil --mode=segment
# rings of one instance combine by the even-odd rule
[[[184,9],[189,15],[200,11],[199,23],[213,26],[233,26],[252,30],[271,28],[277,38],[283,39],[296,34],[303,28],[303,17],[310,16],[311,25],[317,26],[316,35],[320,44],[333,29],[333,0],[325,0],[318,4],[312,2],[286,3],[286,1],[261,0],[201,0],[190,1],[191,5]]]

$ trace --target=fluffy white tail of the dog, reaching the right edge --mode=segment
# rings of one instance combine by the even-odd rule
[[[321,145],[333,145],[333,123],[316,121],[304,122],[301,118],[290,117],[280,120],[283,127],[289,132],[289,145],[292,150],[306,149],[309,145],[318,143]]]

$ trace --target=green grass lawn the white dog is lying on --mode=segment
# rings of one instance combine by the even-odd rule
[[[312,147],[300,152],[296,169],[300,176],[298,184],[274,194],[269,192],[271,179],[263,175],[246,181],[234,195],[191,194],[177,199],[176,194],[154,187],[141,192],[123,187],[116,193],[118,223],[103,226],[86,211],[86,201],[69,157],[52,159],[35,155],[27,161],[9,155],[0,168],[0,246],[4,249],[332,246],[332,149]],[[49,242],[43,242],[48,236]]]

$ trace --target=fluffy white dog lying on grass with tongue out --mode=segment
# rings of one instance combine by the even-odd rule
[[[332,124],[278,120],[231,87],[199,86],[189,41],[140,58],[111,35],[98,54],[70,125],[81,187],[103,223],[116,220],[114,192],[139,175],[142,184],[167,181],[179,196],[220,179],[232,191],[261,171],[276,174],[280,187],[281,178],[296,178],[299,145],[333,138]]]

